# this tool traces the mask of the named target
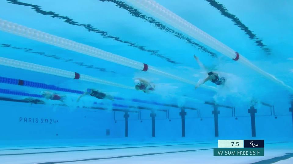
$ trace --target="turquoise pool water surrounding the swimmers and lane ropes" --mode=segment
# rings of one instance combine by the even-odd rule
[[[46,71],[9,67],[1,63],[1,150],[16,147],[57,149],[67,146],[175,144],[179,145],[178,150],[185,151],[193,149],[192,144],[195,142],[213,143],[211,147],[203,146],[203,149],[212,149],[217,147],[215,143],[218,139],[257,138],[264,139],[267,144],[291,142],[293,120],[289,108],[292,108],[292,90],[284,85],[293,86],[293,2],[156,2],[236,50],[241,54],[240,58],[244,56],[283,84],[274,83],[264,74],[232,60],[128,1],[86,0],[81,3],[3,0],[0,2],[0,19],[146,63],[150,68],[195,84],[207,76],[194,60],[193,56],[196,55],[209,71],[218,72],[226,77],[227,82],[225,86],[217,86],[210,81],[205,83],[206,86],[215,87],[215,90],[206,87],[195,89],[194,84],[152,73],[151,69],[133,69],[1,30],[0,57],[81,74],[81,79],[77,80],[74,76],[60,77]],[[84,75],[115,84],[85,81],[82,79]],[[15,79],[16,85],[4,80],[7,78]],[[150,94],[136,91],[136,78],[153,83],[155,91]],[[19,80],[34,83],[22,86]],[[67,90],[40,88],[35,83]],[[117,87],[118,84],[124,87]],[[85,96],[77,102],[87,88],[111,95],[114,101]],[[68,90],[75,90],[75,93]],[[66,99],[64,102],[47,100],[42,96],[43,91],[66,95]],[[27,101],[29,97],[44,101],[45,104],[30,103]],[[255,137],[252,134],[251,115],[248,113],[248,109],[253,106],[252,99],[256,102],[254,107],[257,110]],[[215,132],[217,121],[212,114],[214,105],[208,103],[220,105],[218,136]],[[183,115],[186,112],[186,115],[182,116],[179,112],[183,112]],[[156,114],[154,120],[152,113]],[[129,114],[128,121],[125,120],[125,114]],[[126,122],[128,125],[125,125]],[[191,147],[180,146],[182,143],[188,143]],[[286,151],[292,148],[276,147]],[[149,153],[157,149],[139,151]],[[163,148],[160,147],[160,151]],[[292,153],[286,151],[284,153]],[[13,155],[5,154],[9,153],[0,153],[0,158],[5,157],[13,163]],[[109,157],[117,155],[111,155],[111,152],[102,154]],[[205,155],[212,156],[212,153]],[[23,163],[40,163],[26,161],[25,156],[19,157],[24,158]],[[70,156],[74,155],[64,160],[71,161]],[[270,157],[275,156],[267,156]],[[47,158],[44,157],[42,162],[49,162]],[[98,157],[81,155],[78,158]],[[150,155],[147,158],[152,157]]]

